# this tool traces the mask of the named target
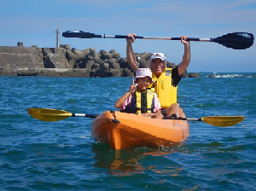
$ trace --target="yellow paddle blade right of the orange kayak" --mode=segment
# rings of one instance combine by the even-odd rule
[[[207,124],[212,124],[218,127],[228,127],[240,123],[244,116],[210,116],[201,118]]]

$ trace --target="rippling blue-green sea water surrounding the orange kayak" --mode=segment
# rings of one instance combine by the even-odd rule
[[[256,190],[256,73],[199,74],[178,85],[188,118],[246,119],[189,122],[177,146],[125,150],[96,143],[93,119],[44,122],[27,109],[116,110],[131,78],[0,77],[0,190]]]

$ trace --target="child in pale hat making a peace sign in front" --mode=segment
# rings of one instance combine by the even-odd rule
[[[120,108],[121,112],[142,114],[145,117],[162,119],[160,101],[157,95],[147,90],[148,86],[152,83],[151,70],[139,68],[136,72],[135,81],[132,79],[129,91],[116,101],[115,107]]]

